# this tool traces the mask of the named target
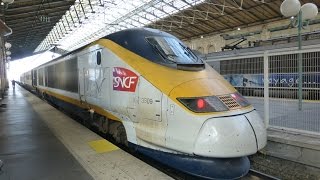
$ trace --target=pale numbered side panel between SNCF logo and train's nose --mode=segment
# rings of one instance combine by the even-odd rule
[[[165,145],[167,127],[166,118],[162,117],[162,96],[161,91],[140,78],[136,134],[140,139],[158,145]]]

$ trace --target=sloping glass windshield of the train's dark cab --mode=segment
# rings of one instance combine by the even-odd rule
[[[146,40],[166,63],[188,65],[189,68],[191,68],[192,65],[198,68],[199,65],[201,65],[201,67],[204,66],[203,61],[195,55],[190,48],[175,38],[152,36],[146,37]]]

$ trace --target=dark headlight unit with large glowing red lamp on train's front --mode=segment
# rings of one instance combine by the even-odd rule
[[[193,112],[220,112],[228,111],[228,107],[224,105],[216,96],[197,97],[197,98],[177,98],[184,106]]]

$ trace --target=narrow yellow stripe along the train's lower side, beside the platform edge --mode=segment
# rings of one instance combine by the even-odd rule
[[[71,98],[71,97],[68,97],[68,96],[64,96],[64,95],[61,95],[61,94],[58,94],[58,93],[55,93],[55,92],[52,92],[50,90],[47,90],[47,89],[43,89],[43,88],[39,88],[38,89],[41,91],[41,92],[44,92],[50,96],[53,96],[55,98],[58,98],[62,101],[65,101],[65,102],[68,102],[70,104],[74,104],[76,106],[79,106],[83,109],[94,109],[94,111],[100,115],[103,115],[105,117],[107,117],[108,119],[110,120],[115,120],[115,121],[120,121],[121,120],[119,118],[117,118],[116,116],[112,115],[111,113],[107,112],[106,110],[104,110],[103,108],[99,107],[99,106],[96,106],[96,105],[93,105],[93,104],[89,104],[89,103],[85,103],[85,102],[80,102],[78,99],[74,99],[74,98]]]

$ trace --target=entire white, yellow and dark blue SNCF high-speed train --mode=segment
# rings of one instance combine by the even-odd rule
[[[21,83],[118,142],[209,179],[244,176],[266,145],[256,110],[176,37],[149,28],[101,38]]]

